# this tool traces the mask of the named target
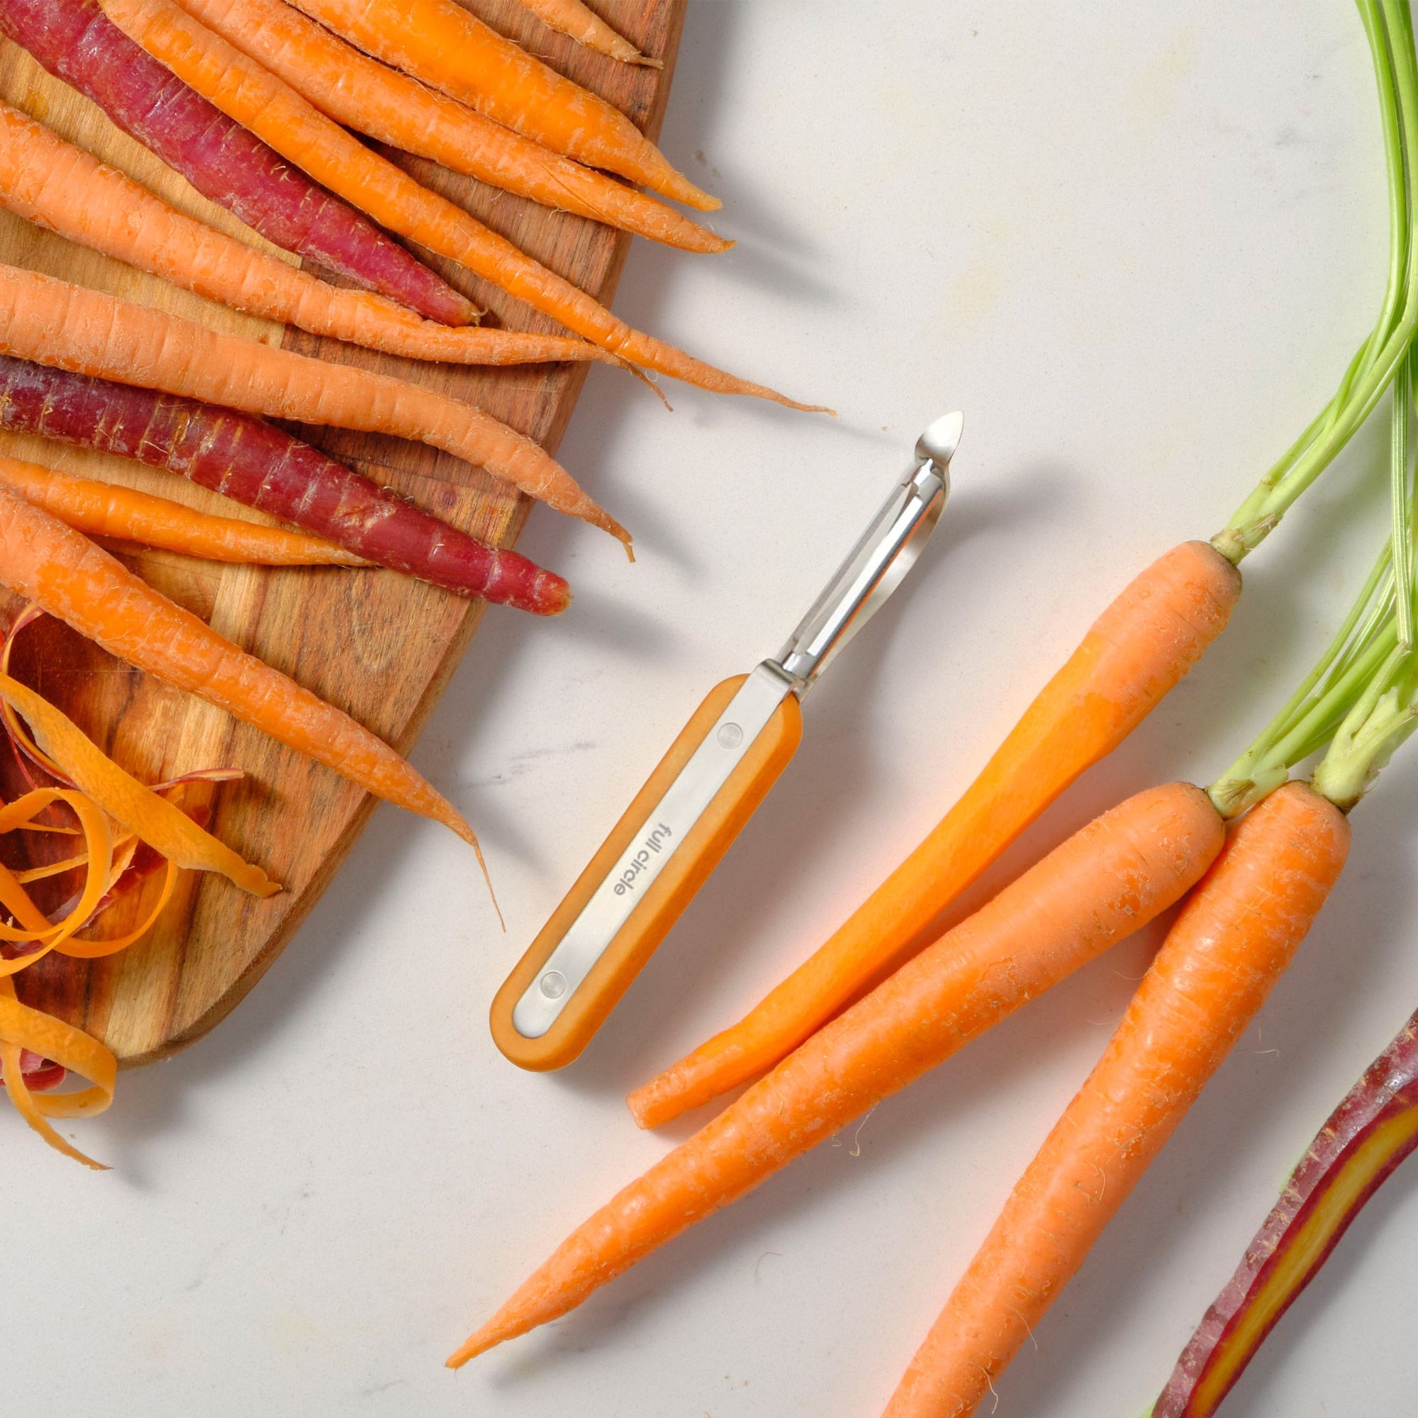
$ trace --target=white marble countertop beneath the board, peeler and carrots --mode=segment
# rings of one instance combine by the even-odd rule
[[[640,560],[537,512],[525,549],[573,579],[574,610],[489,614],[414,754],[479,825],[508,934],[451,835],[380,808],[251,998],[82,1129],[113,1173],[0,1127],[16,1412],[875,1414],[1119,1017],[1156,936],[554,1329],[441,1367],[668,1146],[631,1124],[627,1088],[818,944],[1123,581],[1225,520],[1329,397],[1383,284],[1377,105],[1340,0],[691,0],[664,145],[740,245],[637,247],[617,309],[841,418],[683,389],[668,415],[591,372],[563,457]],[[699,698],[778,647],[954,406],[946,522],[824,678],[778,788],[593,1049],[552,1076],[505,1064],[502,976]],[[1231,760],[1367,569],[1384,448],[1367,430],[1248,563],[1204,666],[1007,866]],[[1000,1414],[1141,1412],[1418,1005],[1415,771],[1356,815],[1293,973]],[[1411,1409],[1415,1185],[1401,1173],[1354,1227],[1228,1414]]]

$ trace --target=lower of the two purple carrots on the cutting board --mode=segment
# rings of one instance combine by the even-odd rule
[[[484,546],[250,414],[0,354],[0,428],[166,468],[459,596],[537,615],[570,601],[553,571]]]

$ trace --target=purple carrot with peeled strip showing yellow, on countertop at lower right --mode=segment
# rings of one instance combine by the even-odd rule
[[[1418,1014],[1316,1133],[1151,1411],[1211,1418],[1370,1197],[1418,1147]]]

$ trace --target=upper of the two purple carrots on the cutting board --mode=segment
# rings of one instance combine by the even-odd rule
[[[431,320],[468,325],[476,318],[472,302],[187,88],[94,0],[0,0],[0,31],[278,247]]]

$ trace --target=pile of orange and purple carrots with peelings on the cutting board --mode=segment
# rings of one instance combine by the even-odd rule
[[[580,0],[527,0],[526,9],[613,65],[659,65]],[[41,118],[0,104],[0,204],[37,227],[234,311],[407,359],[598,362],[647,381],[666,374],[811,407],[631,329],[367,145],[374,139],[683,251],[733,245],[661,200],[719,207],[624,113],[455,0],[0,0],[0,35],[252,233],[347,285],[176,210]],[[482,312],[417,251],[492,282],[563,333],[479,325]],[[0,458],[0,586],[26,603],[4,642],[0,702],[33,784],[0,808],[0,832],[82,838],[74,844],[82,849],[38,854],[47,865],[33,871],[0,868],[0,906],[11,922],[0,926],[0,1071],[31,1126],[74,1156],[45,1117],[106,1106],[113,1056],[20,1004],[11,976],[51,950],[98,956],[126,947],[142,932],[105,936],[105,913],[146,893],[150,923],[183,868],[223,872],[258,895],[279,888],[200,825],[206,807],[194,781],[220,783],[237,770],[143,787],[9,675],[10,645],[35,617],[65,623],[369,793],[444,822],[482,864],[468,822],[400,754],[94,539],[349,574],[387,567],[535,615],[554,615],[570,601],[554,571],[485,545],[268,420],[420,441],[631,546],[630,532],[553,457],[468,400],[0,264],[0,430],[163,468],[285,523],[196,512]],[[51,1092],[69,1069],[94,1088]]]

